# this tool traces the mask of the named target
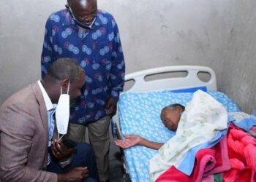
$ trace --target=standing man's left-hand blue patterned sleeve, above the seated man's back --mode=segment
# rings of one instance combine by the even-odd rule
[[[42,45],[42,55],[41,55],[41,74],[42,79],[47,74],[47,70],[51,63],[56,60],[56,56],[54,54],[54,47],[53,47],[53,32],[57,31],[56,28],[53,28],[51,24],[53,15],[50,15],[48,18],[46,25],[45,25],[45,37],[44,42]],[[56,48],[57,49],[57,48]],[[58,49],[57,49],[58,51]]]

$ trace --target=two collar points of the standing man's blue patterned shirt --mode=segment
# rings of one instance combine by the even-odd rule
[[[72,16],[70,15],[68,9],[64,9],[63,12],[62,12],[62,15],[65,16],[65,19],[63,21],[63,25],[66,25],[66,26],[75,25],[75,22],[72,19]],[[100,9],[98,9],[96,20],[94,22],[94,25],[92,25],[91,29],[94,29],[94,26],[103,25],[102,21],[99,18],[99,15],[102,15],[102,10],[100,10]]]

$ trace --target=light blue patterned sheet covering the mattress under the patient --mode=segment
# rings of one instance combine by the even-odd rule
[[[240,111],[238,106],[222,92],[208,92],[227,111]],[[127,92],[118,101],[118,114],[121,135],[140,135],[151,141],[165,143],[175,132],[168,130],[160,120],[160,111],[164,106],[180,103],[187,106],[192,99],[191,92],[175,93],[170,91],[158,92]],[[134,146],[124,150],[127,170],[132,181],[151,181],[148,174],[148,161],[157,151],[144,146]]]

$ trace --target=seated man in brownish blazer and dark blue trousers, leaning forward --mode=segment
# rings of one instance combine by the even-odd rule
[[[43,80],[29,84],[3,103],[0,181],[98,181],[91,146],[78,143],[70,149],[53,139],[56,124],[50,112],[54,112],[61,90],[69,92],[73,100],[81,95],[84,82],[83,68],[72,59],[61,58]]]

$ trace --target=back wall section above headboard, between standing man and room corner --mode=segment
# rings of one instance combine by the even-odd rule
[[[229,1],[115,2],[104,1],[104,5],[118,15],[127,72],[156,66],[222,65],[221,46],[226,44],[230,26]]]

